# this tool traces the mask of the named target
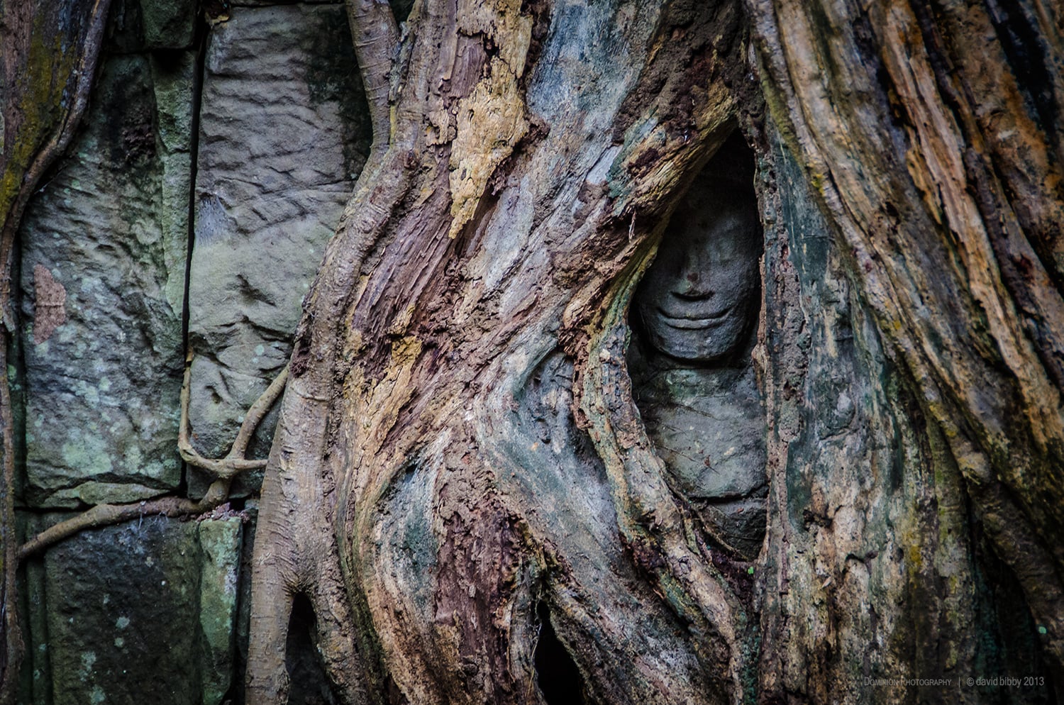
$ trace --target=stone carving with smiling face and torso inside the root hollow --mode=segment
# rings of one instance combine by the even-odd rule
[[[752,187],[717,172],[726,173],[711,164],[696,179],[636,290],[629,367],[674,489],[716,543],[749,560],[764,537],[767,493],[750,362],[762,233]]]

